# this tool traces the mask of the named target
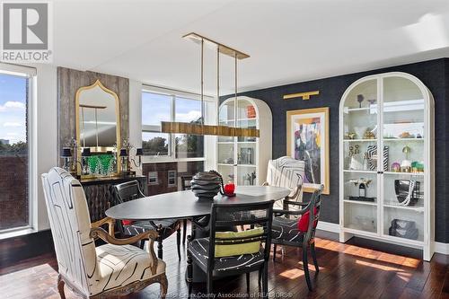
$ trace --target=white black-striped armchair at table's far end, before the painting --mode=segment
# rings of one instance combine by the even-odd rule
[[[301,202],[303,201],[303,178],[304,161],[284,156],[276,160],[269,160],[265,185],[290,189],[291,192],[286,199]],[[277,200],[274,208],[285,209],[284,200]],[[295,206],[289,208],[298,210]]]

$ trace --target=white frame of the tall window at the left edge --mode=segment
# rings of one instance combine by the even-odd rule
[[[37,69],[30,66],[19,66],[13,64],[0,63],[0,74],[13,75],[28,80],[28,98],[26,99],[26,134],[28,147],[28,224],[16,226],[0,230],[0,239],[2,236],[20,235],[22,232],[29,233],[34,231],[35,224],[35,208],[38,207],[36,201],[38,200],[38,180],[37,176],[37,124],[36,124],[36,80]]]

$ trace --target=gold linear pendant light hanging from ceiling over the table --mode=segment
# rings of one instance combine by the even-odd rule
[[[197,33],[189,33],[182,38],[192,40],[201,46],[201,123],[189,123],[178,121],[162,121],[163,133],[189,134],[189,135],[214,135],[214,136],[238,136],[238,137],[259,137],[260,131],[257,128],[236,128],[237,121],[234,119],[235,127],[215,126],[204,124],[204,45],[205,43],[216,47],[216,99],[220,99],[219,75],[220,75],[220,54],[234,58],[235,86],[234,95],[237,98],[237,60],[250,57],[234,48],[227,47],[215,40],[210,40]],[[217,103],[218,105],[219,103]]]

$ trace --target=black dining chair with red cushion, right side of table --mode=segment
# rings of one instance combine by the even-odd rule
[[[316,259],[315,253],[315,231],[316,225],[318,224],[318,219],[320,218],[321,212],[321,193],[323,186],[319,189],[313,191],[312,198],[309,202],[297,202],[284,200],[286,209],[274,209],[273,213],[275,217],[273,218],[272,225],[272,235],[271,242],[273,243],[273,261],[276,260],[277,245],[287,245],[303,248],[303,267],[304,267],[304,277],[307,282],[307,286],[310,291],[313,290],[312,282],[309,275],[309,262],[307,259],[307,250],[310,247],[313,265],[315,266],[315,275],[318,274],[320,268],[318,267],[318,261]],[[288,205],[296,205],[303,207],[297,211],[288,210]],[[289,215],[300,216],[298,219],[290,219]],[[304,218],[305,227],[300,230],[298,226],[298,221],[301,221],[301,217],[308,215],[308,218]]]

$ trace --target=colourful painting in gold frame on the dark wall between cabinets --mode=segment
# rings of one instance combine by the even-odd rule
[[[329,107],[286,111],[286,154],[304,161],[305,192],[329,194]]]

